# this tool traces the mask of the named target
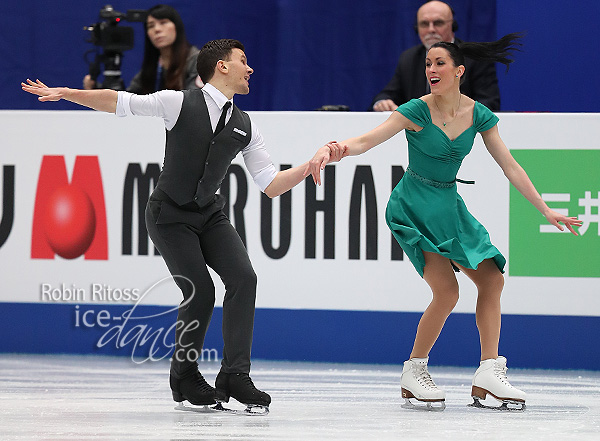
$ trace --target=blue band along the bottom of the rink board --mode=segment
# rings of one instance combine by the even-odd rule
[[[172,355],[171,308],[142,306],[138,317],[115,320],[129,307],[115,305],[1,305],[0,352],[93,354],[130,358],[135,363]],[[87,311],[86,318],[83,316]],[[98,320],[98,315],[113,317]],[[262,360],[401,364],[410,353],[421,317],[417,312],[331,311],[259,308],[254,322],[252,356]],[[35,332],[31,323],[35,321]],[[215,308],[206,335],[203,361],[218,361],[223,349],[222,308]],[[505,314],[500,352],[512,367],[600,370],[598,351],[591,350],[600,317]],[[169,338],[171,337],[171,338]],[[165,339],[167,344],[165,344]],[[26,349],[24,349],[26,348]],[[454,313],[430,354],[431,363],[474,366],[479,360],[475,316]]]

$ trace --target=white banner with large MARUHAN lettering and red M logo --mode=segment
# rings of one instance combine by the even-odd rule
[[[302,164],[323,143],[363,133],[388,116],[334,112],[250,114],[277,167]],[[499,116],[500,134],[510,149],[600,149],[597,136],[600,114]],[[145,254],[138,249],[138,201],[144,198],[143,194],[138,195],[137,188],[138,184],[144,184],[143,173],[150,174],[162,165],[161,120],[117,118],[91,111],[5,111],[0,112],[0,134],[3,172],[0,185],[4,195],[0,301],[132,303],[145,295],[145,304],[180,302],[181,294],[168,279],[162,258],[153,254],[151,246]],[[73,259],[58,255],[40,257],[43,252],[54,254],[53,247],[58,245],[49,245],[52,240],[63,240],[49,223],[47,213],[40,212],[37,217],[35,213],[36,206],[39,210],[42,207],[39,201],[36,205],[36,194],[39,196],[43,191],[40,190],[45,185],[40,185],[45,167],[42,164],[51,161],[49,157],[55,157],[52,159],[55,164],[64,162],[72,184],[74,181],[80,184],[88,173],[88,168],[76,164],[77,158],[91,157],[91,163],[97,158],[105,203],[106,257],[85,258],[81,253]],[[242,229],[243,223],[241,233],[258,274],[258,307],[422,311],[428,305],[429,288],[408,259],[397,260],[398,256],[393,255],[391,235],[384,220],[393,176],[407,166],[403,133],[360,157],[346,158],[336,164],[326,174],[325,184],[317,188],[316,195],[309,194],[310,201],[307,201],[307,184],[295,187],[291,191],[289,222],[285,216],[280,219],[283,199],[274,199],[272,228],[264,231],[261,225],[268,227],[268,222],[265,210],[261,211],[261,193],[243,167],[241,155],[234,164],[241,168],[230,175],[230,218],[238,229]],[[73,176],[77,168],[82,177]],[[57,177],[60,173],[48,170],[51,176],[48,182],[60,181]],[[142,173],[142,180],[131,179],[136,170]],[[560,178],[560,170],[548,173]],[[476,185],[459,184],[459,192],[473,215],[488,229],[492,242],[507,257],[508,269],[509,183],[479,136],[458,177],[476,181]],[[363,186],[358,185],[361,182],[366,190],[361,190]],[[49,191],[47,186],[44,188]],[[369,195],[370,189],[374,193]],[[596,190],[600,192],[600,184]],[[315,198],[324,202],[315,203]],[[356,211],[351,214],[351,207],[355,210],[358,207],[360,216]],[[283,212],[287,213],[285,205]],[[93,239],[96,241],[102,213],[98,206],[94,206],[92,213],[96,218]],[[143,213],[141,216],[143,219]],[[376,223],[370,224],[371,236],[367,239],[367,223],[375,217]],[[81,222],[75,222],[74,228],[79,228]],[[289,243],[285,225],[289,226]],[[359,229],[355,229],[357,225]],[[595,234],[592,230],[589,234]],[[356,258],[357,245],[359,258]],[[83,251],[91,249],[84,248]],[[536,257],[536,250],[532,249],[531,259]],[[600,252],[598,257],[600,264]],[[564,259],[565,265],[576,264],[575,256],[556,258]],[[167,280],[160,282],[164,278]],[[458,278],[461,299],[456,311],[473,312],[476,290],[463,274]],[[219,304],[223,288],[218,276],[214,280]],[[157,282],[160,283],[154,287]],[[600,316],[599,294],[600,279],[596,277],[511,277],[507,271],[503,310],[513,314]]]

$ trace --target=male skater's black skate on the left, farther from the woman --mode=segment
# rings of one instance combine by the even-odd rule
[[[208,406],[216,404],[215,389],[206,382],[202,374],[198,371],[183,378],[176,378],[171,374],[169,383],[171,385],[171,392],[173,393],[173,400],[179,403],[175,407],[176,410],[210,412],[211,409]],[[194,406],[204,407],[185,406],[183,404],[185,400]]]

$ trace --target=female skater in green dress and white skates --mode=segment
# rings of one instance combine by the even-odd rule
[[[563,216],[546,205],[529,177],[515,161],[498,134],[498,118],[484,105],[462,95],[465,56],[496,61],[508,66],[511,50],[520,36],[509,34],[491,43],[434,44],[426,55],[426,76],[431,93],[401,105],[380,126],[339,144],[329,143],[309,163],[315,183],[329,162],[330,149],[340,145],[344,156],[360,155],[402,130],[408,140],[409,166],[393,190],[386,221],[418,273],[429,284],[433,299],[425,310],[410,354],[402,371],[403,407],[409,399],[426,402],[429,409],[445,408],[445,392],[427,370],[428,356],[442,327],[458,301],[454,268],[477,286],[476,320],[481,343],[481,364],[472,385],[473,405],[482,406],[487,394],[503,402],[501,407],[525,407],[525,393],[506,379],[506,358],[498,356],[500,295],[506,263],[490,242],[488,232],[467,210],[457,193],[456,175],[479,132],[494,160],[509,181],[559,230],[580,226],[575,217]],[[561,225],[564,224],[563,225]],[[438,402],[433,407],[431,403]]]

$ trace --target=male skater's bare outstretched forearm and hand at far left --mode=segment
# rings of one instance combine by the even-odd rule
[[[40,80],[21,83],[21,88],[39,96],[40,101],[66,100],[94,110],[115,113],[117,110],[117,91],[110,89],[80,90],[68,87],[48,87]]]

